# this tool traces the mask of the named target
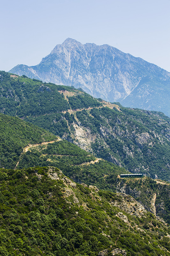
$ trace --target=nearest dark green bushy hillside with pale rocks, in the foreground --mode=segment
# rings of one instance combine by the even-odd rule
[[[170,255],[169,227],[131,196],[76,184],[54,167],[0,169],[0,180],[2,256]]]

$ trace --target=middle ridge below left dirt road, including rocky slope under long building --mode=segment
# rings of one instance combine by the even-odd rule
[[[18,168],[39,166],[55,166],[79,183],[95,185],[99,189],[112,192],[120,191],[133,196],[144,205],[145,209],[153,212],[151,202],[156,194],[157,216],[170,223],[170,184],[157,183],[149,177],[143,179],[124,178],[118,175],[128,173],[124,168],[113,163],[99,160],[76,145],[66,141],[57,141],[47,146],[30,148],[20,158]],[[90,164],[93,161],[94,163]]]

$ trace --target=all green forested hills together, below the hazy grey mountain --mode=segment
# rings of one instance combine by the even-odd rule
[[[169,118],[26,76],[0,83],[0,255],[170,255],[169,183],[119,176],[169,180]]]

